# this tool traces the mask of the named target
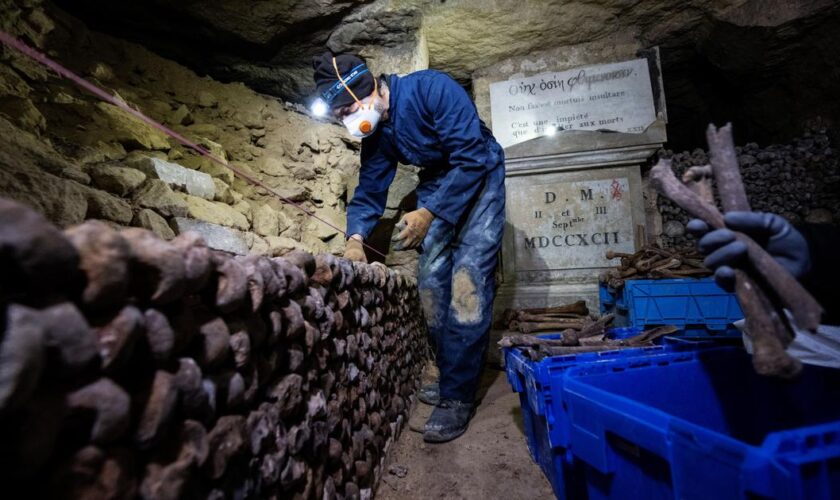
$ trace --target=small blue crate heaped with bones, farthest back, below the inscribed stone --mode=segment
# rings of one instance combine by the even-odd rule
[[[732,323],[744,317],[735,294],[712,277],[627,280],[618,291],[602,283],[599,300],[602,314],[616,314],[616,326],[674,325],[695,337],[740,336]]]

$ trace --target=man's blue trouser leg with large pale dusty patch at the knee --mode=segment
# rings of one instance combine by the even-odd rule
[[[504,168],[458,225],[436,219],[423,242],[419,288],[444,399],[472,402],[487,350],[496,260],[504,230]]]

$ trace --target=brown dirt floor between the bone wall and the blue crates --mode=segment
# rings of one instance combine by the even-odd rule
[[[519,396],[505,372],[487,368],[482,400],[467,432],[445,444],[423,442],[432,409],[418,403],[391,453],[377,499],[551,499],[551,486],[528,454]],[[404,476],[404,477],[400,477]]]

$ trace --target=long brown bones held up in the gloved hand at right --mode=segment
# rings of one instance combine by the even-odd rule
[[[709,125],[706,138],[711,152],[710,165],[688,169],[681,181],[674,175],[671,161],[661,159],[651,169],[650,180],[663,196],[692,217],[719,229],[725,225],[723,214],[715,205],[712,178],[723,210],[749,211],[751,206],[738,166],[731,125],[721,129]],[[735,292],[744,311],[746,332],[752,339],[753,366],[762,375],[794,377],[802,366],[785,351],[795,335],[791,322],[815,333],[822,307],[759,244],[741,233],[736,233],[736,237],[747,246],[749,256],[745,268],[735,271]]]

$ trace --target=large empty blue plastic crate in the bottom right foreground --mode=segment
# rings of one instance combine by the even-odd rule
[[[781,381],[719,348],[581,365],[563,387],[589,500],[840,497],[840,370]]]

